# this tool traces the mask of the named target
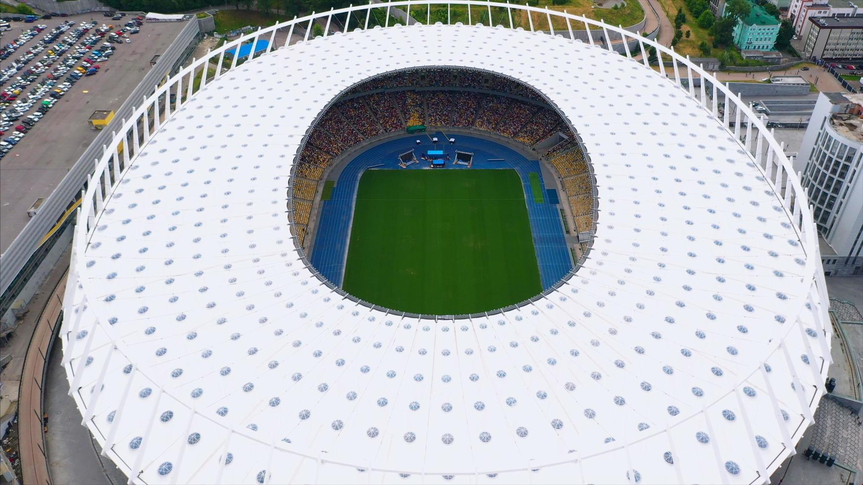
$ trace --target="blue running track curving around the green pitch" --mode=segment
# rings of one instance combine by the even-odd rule
[[[444,134],[438,134],[438,138],[446,140]],[[455,146],[438,144],[438,149],[443,148],[444,152],[448,152],[450,158],[453,159],[456,150],[473,152],[473,168],[513,169],[519,173],[526,194],[527,214],[531,221],[533,246],[537,252],[539,276],[542,280],[543,289],[557,283],[572,269],[572,260],[566,239],[564,239],[564,226],[560,221],[560,211],[557,205],[548,202],[541,204],[533,202],[531,183],[528,179],[530,172],[536,172],[539,175],[545,195],[545,182],[542,180],[542,171],[539,170],[539,161],[528,160],[519,152],[491,140],[465,135],[457,135],[455,138]],[[423,140],[422,146],[416,145],[418,139]],[[336,187],[332,191],[332,198],[322,202],[324,207],[321,210],[318,234],[312,247],[312,264],[324,277],[337,286],[342,286],[344,264],[350,240],[350,221],[354,215],[356,189],[362,173],[369,167],[374,167],[374,169],[433,170],[429,168],[428,162],[422,160],[419,164],[413,164],[407,169],[400,168],[398,165],[399,153],[412,149],[416,150],[419,158],[420,152],[434,149],[434,147],[426,134],[406,135],[398,140],[390,140],[381,145],[373,146],[366,152],[360,153],[344,167],[342,174],[338,177]],[[455,165],[452,162],[447,162],[446,167],[450,170],[469,170],[464,165]]]

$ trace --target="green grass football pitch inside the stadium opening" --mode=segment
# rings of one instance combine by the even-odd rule
[[[469,314],[542,291],[513,170],[370,170],[360,179],[343,288],[417,314]]]

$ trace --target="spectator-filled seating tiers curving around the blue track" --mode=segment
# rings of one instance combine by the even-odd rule
[[[494,92],[489,92],[494,91]],[[294,223],[306,225],[317,185],[340,153],[364,139],[406,127],[474,127],[534,146],[554,134],[565,139],[544,157],[563,179],[564,203],[576,230],[593,224],[593,190],[587,159],[575,134],[539,92],[488,72],[427,69],[394,72],[350,88],[307,137],[293,181]],[[305,238],[306,229],[300,239]]]

